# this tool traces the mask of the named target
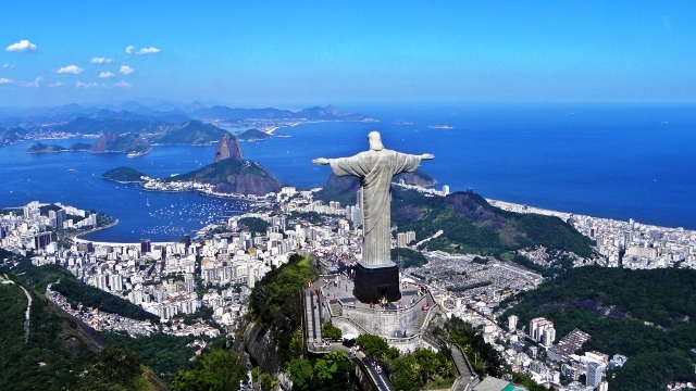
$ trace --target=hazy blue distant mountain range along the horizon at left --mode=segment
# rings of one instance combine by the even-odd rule
[[[199,102],[188,105],[158,104],[149,108],[138,102],[113,106],[83,106],[65,104],[48,109],[0,110],[0,147],[27,139],[60,138],[113,133],[145,134],[150,143],[206,144],[224,133],[214,125],[202,122],[256,124],[271,122],[348,121],[376,122],[360,113],[341,112],[333,105],[309,108],[298,112],[282,109],[232,109],[216,105],[207,108]],[[177,128],[178,127],[178,128]],[[210,129],[201,130],[203,127]],[[160,134],[159,137],[152,135]],[[261,135],[248,134],[250,140]],[[48,151],[39,151],[48,152]]]

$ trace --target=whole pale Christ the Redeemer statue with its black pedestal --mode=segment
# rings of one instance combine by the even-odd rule
[[[360,178],[362,202],[362,261],[356,269],[355,294],[363,302],[387,298],[400,299],[398,267],[391,262],[391,178],[412,173],[430,153],[412,155],[387,150],[377,131],[368,135],[370,150],[350,157],[315,159],[314,164],[330,164],[337,176]]]

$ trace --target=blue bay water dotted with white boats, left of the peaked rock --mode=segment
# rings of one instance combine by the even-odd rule
[[[77,141],[94,142],[92,139],[44,142],[67,147]],[[128,159],[120,153],[26,154],[33,142],[0,149],[0,205],[18,206],[32,200],[61,202],[120,219],[116,226],[89,234],[85,239],[115,242],[135,242],[142,238],[179,240],[191,230],[238,213],[229,201],[188,192],[142,191],[135,185],[101,178],[102,173],[123,165],[152,176],[189,172],[203,165],[202,157],[212,156],[214,147],[157,147],[146,156]]]

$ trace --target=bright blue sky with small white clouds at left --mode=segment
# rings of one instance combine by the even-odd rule
[[[3,0],[0,26],[2,106],[696,101],[693,1]]]

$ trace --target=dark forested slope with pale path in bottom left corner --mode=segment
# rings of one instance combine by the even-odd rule
[[[102,350],[103,340],[44,295],[28,300],[12,274],[0,281],[1,390],[165,390],[162,381],[125,348]]]

